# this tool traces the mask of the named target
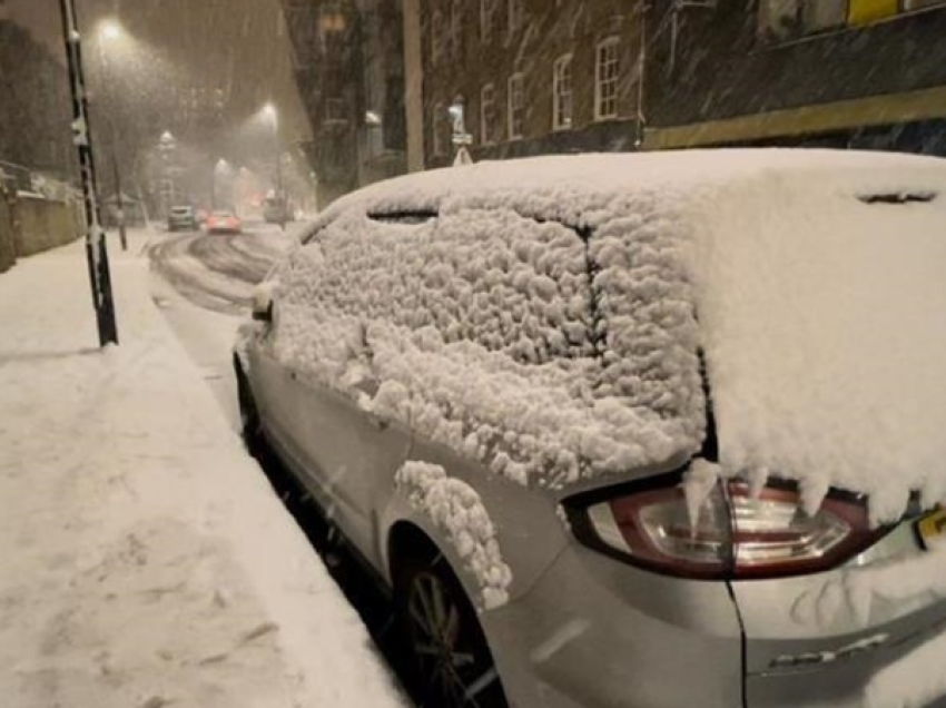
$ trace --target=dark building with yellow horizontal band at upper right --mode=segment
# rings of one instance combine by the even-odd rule
[[[699,0],[648,18],[646,147],[946,155],[946,0]]]

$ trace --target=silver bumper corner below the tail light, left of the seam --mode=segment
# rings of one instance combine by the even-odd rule
[[[742,705],[726,583],[657,576],[571,543],[483,623],[518,708]]]

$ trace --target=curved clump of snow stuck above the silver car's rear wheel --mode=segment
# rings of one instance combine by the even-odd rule
[[[407,490],[411,504],[446,533],[463,567],[476,579],[483,607],[491,610],[505,604],[512,571],[503,561],[493,522],[473,488],[450,479],[440,465],[416,461],[404,463],[395,481]]]

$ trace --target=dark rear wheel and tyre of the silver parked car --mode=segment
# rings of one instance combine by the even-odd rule
[[[476,610],[443,554],[396,563],[394,610],[403,671],[418,706],[508,708]]]

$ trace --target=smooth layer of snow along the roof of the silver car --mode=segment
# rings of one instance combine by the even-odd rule
[[[591,223],[605,217],[613,199],[630,191],[659,190],[673,200],[682,194],[712,194],[761,176],[804,179],[811,174],[857,176],[866,194],[922,186],[942,175],[940,160],[891,153],[745,148],[635,154],[583,154],[483,161],[432,169],[371,185],[323,213],[317,225],[347,209],[372,213],[442,212],[504,205],[515,210]],[[940,181],[942,184],[942,181]],[[590,209],[594,212],[589,213]],[[317,228],[317,226],[316,226]]]

